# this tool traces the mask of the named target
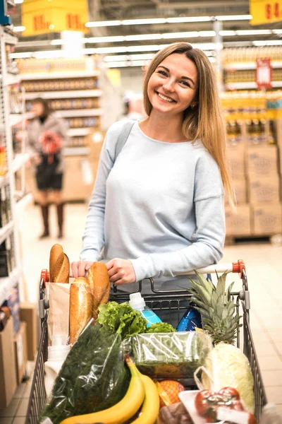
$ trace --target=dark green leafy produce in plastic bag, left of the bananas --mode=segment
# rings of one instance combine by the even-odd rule
[[[123,359],[121,336],[96,323],[78,337],[55,380],[40,422],[59,424],[71,417],[109,408],[125,395],[130,375]]]

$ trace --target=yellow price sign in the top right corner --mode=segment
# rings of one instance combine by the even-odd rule
[[[282,20],[282,0],[250,0],[252,25]]]

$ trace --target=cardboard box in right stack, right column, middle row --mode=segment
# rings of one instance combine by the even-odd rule
[[[280,200],[279,177],[250,177],[248,199],[251,204],[277,203]]]

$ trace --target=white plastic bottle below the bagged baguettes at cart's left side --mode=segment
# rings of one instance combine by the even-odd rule
[[[62,343],[65,344],[62,344]],[[66,359],[71,345],[66,345],[61,334],[55,334],[52,337],[52,346],[48,346],[48,360],[44,363],[45,370],[45,390],[47,398],[50,396],[54,386],[55,379],[61,370],[64,360]]]

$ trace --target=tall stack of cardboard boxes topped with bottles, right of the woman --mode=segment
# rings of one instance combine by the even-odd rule
[[[271,121],[265,94],[249,102],[256,102],[255,107],[249,104],[244,111],[241,103],[240,112],[226,108],[228,157],[238,202],[236,211],[226,206],[226,235],[231,237],[282,232],[281,121]]]

